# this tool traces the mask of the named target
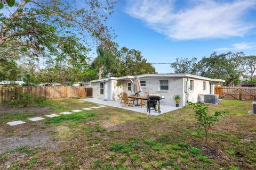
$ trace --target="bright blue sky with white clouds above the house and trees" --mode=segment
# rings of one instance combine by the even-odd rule
[[[256,55],[256,1],[119,1],[108,25],[120,47],[148,62],[241,52]],[[170,65],[154,64],[158,73]]]

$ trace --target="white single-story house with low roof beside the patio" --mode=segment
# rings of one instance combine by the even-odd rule
[[[142,91],[149,94],[160,94],[164,96],[161,104],[175,106],[174,95],[182,97],[180,106],[185,106],[186,101],[197,102],[198,94],[214,94],[214,83],[225,82],[221,79],[210,79],[192,74],[142,74],[138,75]],[[92,80],[93,98],[114,100],[121,92],[133,95],[134,76],[110,77]],[[117,87],[116,84],[122,84]]]

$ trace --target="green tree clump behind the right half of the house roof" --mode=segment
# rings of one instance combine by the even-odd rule
[[[235,82],[238,83],[239,77],[246,75],[246,60],[243,52],[219,55],[214,52],[209,57],[203,57],[201,61],[196,61],[196,58],[191,60],[177,58],[171,67],[175,73],[190,73],[207,78],[223,79],[228,86]]]

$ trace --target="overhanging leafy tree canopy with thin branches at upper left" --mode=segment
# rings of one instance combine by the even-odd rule
[[[49,53],[81,57],[88,49],[76,44],[90,46],[113,38],[106,20],[114,4],[111,0],[23,0],[10,16],[0,14],[0,61]]]

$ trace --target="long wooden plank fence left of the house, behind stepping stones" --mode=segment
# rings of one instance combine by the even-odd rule
[[[41,86],[0,86],[0,101],[2,103],[12,100],[19,100],[22,94],[32,94],[33,98],[67,98],[67,97],[86,97],[92,96],[92,88],[60,86],[60,87],[41,87]]]

